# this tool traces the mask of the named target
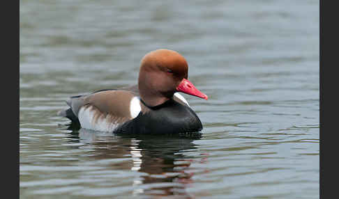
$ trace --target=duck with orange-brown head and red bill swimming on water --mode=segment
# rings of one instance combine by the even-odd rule
[[[177,51],[156,49],[140,62],[137,85],[96,90],[66,100],[59,111],[81,128],[116,134],[201,132],[202,122],[180,93],[208,100],[188,81],[188,63]]]

